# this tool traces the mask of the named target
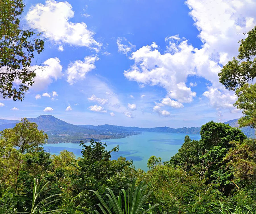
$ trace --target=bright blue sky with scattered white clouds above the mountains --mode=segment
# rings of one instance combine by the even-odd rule
[[[255,0],[24,3],[21,25],[45,50],[24,100],[0,98],[1,119],[178,128],[242,116],[218,73],[256,25]]]

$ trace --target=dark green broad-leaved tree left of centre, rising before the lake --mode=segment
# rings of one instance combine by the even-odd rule
[[[78,160],[77,172],[73,175],[73,187],[75,187],[75,205],[78,210],[85,213],[93,213],[94,205],[99,201],[92,197],[89,190],[102,194],[106,188],[111,188],[118,193],[120,188],[127,185],[129,179],[120,179],[124,171],[132,166],[132,161],[123,158],[111,160],[111,153],[119,150],[115,146],[112,150],[106,150],[106,143],[90,141],[89,145],[81,141],[82,158]],[[118,178],[118,179],[116,179]],[[119,183],[119,181],[122,181]]]

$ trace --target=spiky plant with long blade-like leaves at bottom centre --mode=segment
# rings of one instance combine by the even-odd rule
[[[102,199],[100,194],[98,192],[92,190],[105,208],[104,209],[102,207],[102,205],[98,204],[102,213],[104,213],[104,214],[108,214],[108,213],[109,214],[112,214],[112,213],[115,213],[115,214],[138,214],[138,213],[140,213],[141,209],[143,209],[142,206],[144,205],[145,201],[148,199],[148,197],[150,196],[152,191],[149,191],[147,195],[144,195],[148,185],[143,185],[144,181],[141,181],[139,186],[135,187],[135,182],[136,182],[136,178],[133,179],[131,191],[130,191],[130,194],[128,195],[128,200],[127,200],[125,190],[121,189],[121,191],[123,192],[123,200],[124,200],[123,208],[122,208],[121,191],[119,192],[119,196],[116,197],[111,189],[107,189],[109,191],[109,194],[107,194],[107,196],[109,198],[109,202],[112,207],[112,209],[111,209],[110,207],[108,207],[107,203]],[[150,210],[152,210],[154,207],[156,207],[158,205],[159,204],[155,204],[152,207],[150,206],[149,209],[143,210],[144,211],[143,214],[148,213]],[[95,211],[95,212],[99,214],[98,211]]]

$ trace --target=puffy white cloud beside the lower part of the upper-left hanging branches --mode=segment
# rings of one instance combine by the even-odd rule
[[[34,84],[31,88],[35,90],[43,90],[47,88],[49,84],[53,82],[53,80],[57,80],[62,76],[62,66],[60,64],[60,60],[56,58],[49,58],[44,61],[42,66],[31,66],[30,70],[35,70],[36,77],[34,78]]]

